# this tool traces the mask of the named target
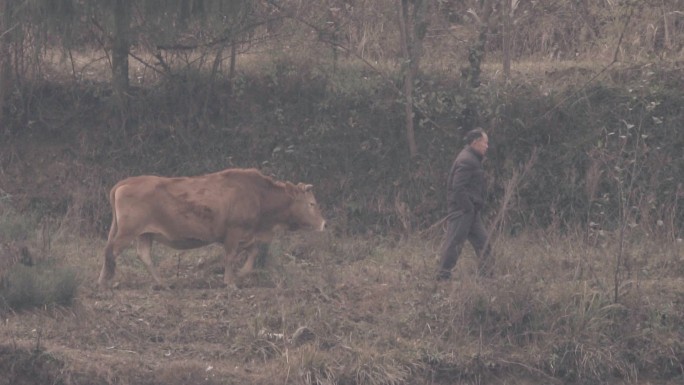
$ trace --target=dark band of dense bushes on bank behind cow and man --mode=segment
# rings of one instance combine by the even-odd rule
[[[163,87],[138,90],[123,120],[106,93],[90,90],[97,86],[53,92],[59,100],[45,96],[33,108],[45,121],[73,122],[60,124],[64,144],[79,138],[77,154],[70,154],[90,165],[55,181],[71,196],[59,197],[66,205],[48,207],[89,208],[103,229],[110,215],[106,190],[117,178],[258,167],[314,183],[339,231],[426,228],[444,214],[445,175],[462,135],[477,124],[492,138],[490,213],[536,154],[526,177],[508,184],[515,189],[502,217],[508,229],[628,222],[681,236],[684,96],[676,71],[615,68],[586,83],[591,70],[571,69],[508,83],[490,78],[475,92],[458,79],[426,74],[416,87],[419,156],[409,159],[393,80],[341,65],[299,72],[296,65],[243,73],[232,94],[228,84],[209,87],[197,73],[167,79]],[[64,117],[65,105],[77,112]],[[12,132],[10,143],[56,140],[40,125]],[[75,194],[73,184],[84,180],[90,190]]]

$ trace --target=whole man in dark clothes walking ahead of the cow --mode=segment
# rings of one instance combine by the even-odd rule
[[[476,128],[466,134],[465,142],[467,145],[454,160],[447,181],[447,234],[437,280],[451,277],[451,269],[456,265],[466,240],[470,241],[478,256],[478,273],[492,275],[491,250],[480,215],[485,193],[482,160],[489,138],[481,128]]]

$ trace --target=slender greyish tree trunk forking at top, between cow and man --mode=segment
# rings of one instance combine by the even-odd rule
[[[413,84],[423,56],[423,39],[427,34],[427,14],[430,0],[397,0],[399,35],[402,52],[403,93],[406,121],[406,139],[411,158],[418,155],[413,126]]]

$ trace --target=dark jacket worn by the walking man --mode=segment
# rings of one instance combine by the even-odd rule
[[[449,212],[482,209],[485,195],[482,159],[482,155],[470,146],[466,146],[454,160],[447,181]]]

